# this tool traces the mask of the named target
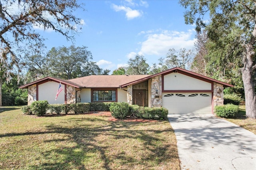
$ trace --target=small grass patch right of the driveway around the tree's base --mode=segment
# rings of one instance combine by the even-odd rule
[[[256,119],[250,119],[245,116],[245,105],[239,106],[239,112],[236,117],[227,120],[256,134]]]

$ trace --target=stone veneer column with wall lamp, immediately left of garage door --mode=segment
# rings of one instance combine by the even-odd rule
[[[156,94],[156,90],[158,91],[158,94]],[[152,78],[151,107],[162,107],[162,75],[155,76]]]

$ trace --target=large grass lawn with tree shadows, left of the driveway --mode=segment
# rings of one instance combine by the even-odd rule
[[[36,117],[0,110],[0,169],[180,169],[168,121],[112,121],[111,116]]]

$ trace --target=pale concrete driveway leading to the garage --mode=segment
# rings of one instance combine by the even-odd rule
[[[168,115],[180,167],[185,170],[256,170],[256,135],[214,115]]]

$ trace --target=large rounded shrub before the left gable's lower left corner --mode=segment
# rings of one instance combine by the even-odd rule
[[[44,115],[48,109],[47,100],[35,101],[30,105],[32,114],[37,116]]]

